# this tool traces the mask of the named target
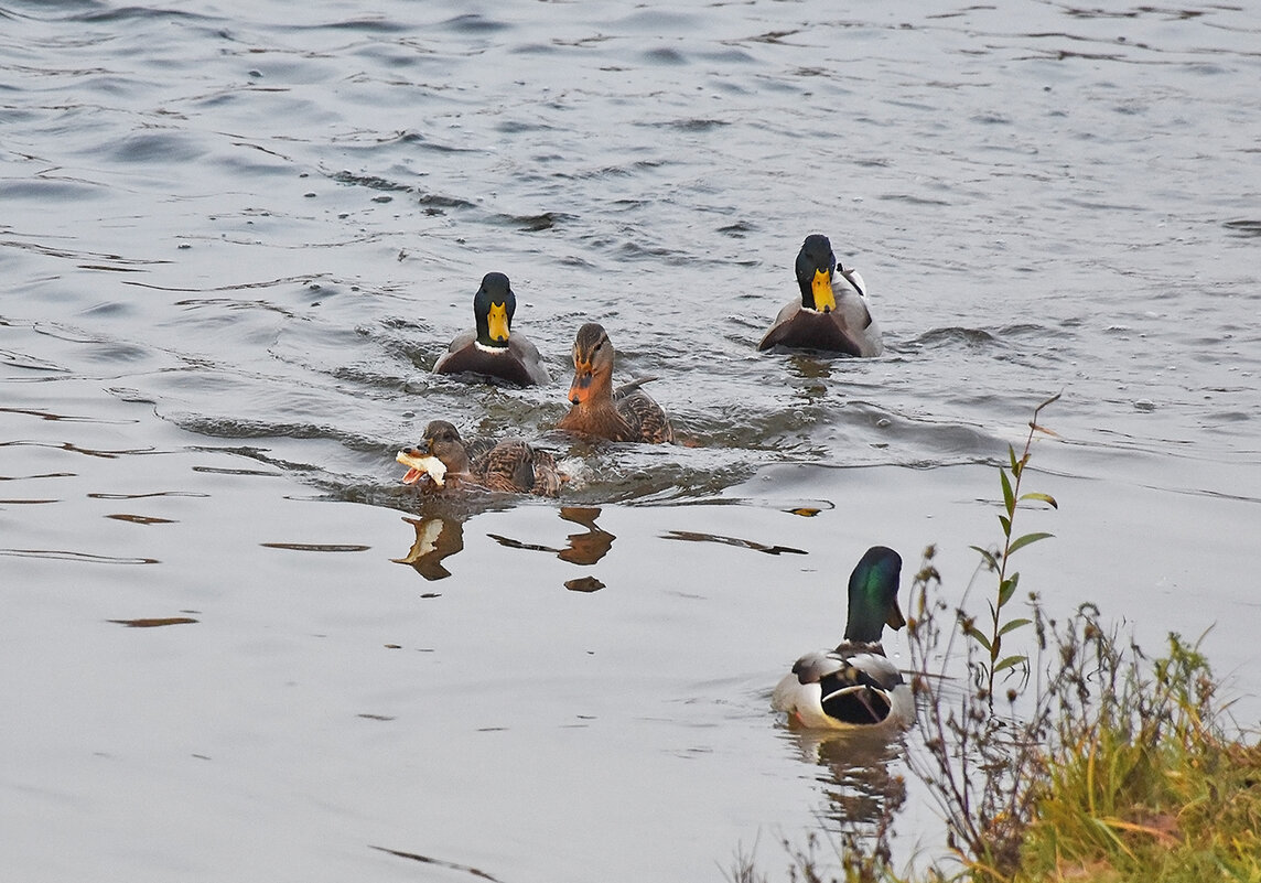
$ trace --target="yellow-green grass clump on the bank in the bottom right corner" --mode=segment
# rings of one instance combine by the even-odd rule
[[[1261,880],[1261,746],[1226,723],[1208,660],[1178,634],[1150,666],[1124,658],[1083,621],[1105,680],[1055,718],[1016,864],[973,877]]]

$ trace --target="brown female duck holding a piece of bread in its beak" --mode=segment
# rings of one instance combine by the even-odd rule
[[[414,484],[427,474],[435,489],[446,484],[472,484],[487,491],[555,497],[565,481],[556,459],[546,450],[520,439],[494,447],[465,445],[459,430],[445,420],[425,426],[424,444],[400,450],[397,460],[409,467],[402,478],[405,484]]]

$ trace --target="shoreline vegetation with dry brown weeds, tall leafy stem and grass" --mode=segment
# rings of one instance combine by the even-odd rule
[[[1005,544],[979,549],[997,573],[991,631],[942,599],[932,547],[912,589],[918,722],[904,737],[904,757],[946,821],[937,853],[952,860],[894,869],[890,843],[905,786],[889,777],[884,817],[842,830],[830,841],[835,860],[821,858],[826,844],[816,834],[806,846],[782,841],[793,883],[1261,883],[1261,744],[1219,703],[1221,682],[1199,642],[1170,633],[1168,652],[1150,658],[1106,628],[1093,604],[1058,623],[1035,593],[1028,618],[1001,617],[1019,578],[1006,571],[1006,558],[1050,536],[1016,537],[1013,529],[1020,501],[1055,507],[1045,494],[1021,494],[1019,484],[1033,430],[1047,431],[1038,411],[1050,401],[1034,411],[1023,457],[1011,452],[1015,481],[1000,469]],[[1024,626],[1033,627],[1037,651],[1000,657],[1001,640],[1010,645]],[[1004,670],[1018,685],[996,711],[995,674]],[[744,854],[728,878],[770,879]]]

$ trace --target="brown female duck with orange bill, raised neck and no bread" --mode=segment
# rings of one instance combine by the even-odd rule
[[[574,382],[569,387],[572,407],[557,429],[596,435],[612,441],[675,440],[675,430],[661,405],[639,389],[651,377],[613,389],[613,343],[604,328],[588,322],[574,339]]]

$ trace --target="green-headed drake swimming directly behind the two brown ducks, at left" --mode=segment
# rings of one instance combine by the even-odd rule
[[[512,333],[516,312],[517,298],[508,278],[502,272],[485,274],[482,288],[473,296],[477,328],[451,341],[434,371],[440,375],[469,371],[521,386],[551,382],[537,347],[521,332]]]

